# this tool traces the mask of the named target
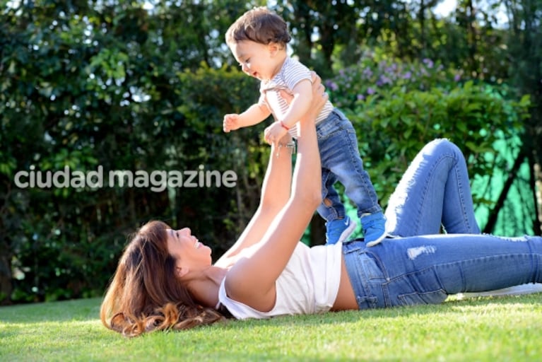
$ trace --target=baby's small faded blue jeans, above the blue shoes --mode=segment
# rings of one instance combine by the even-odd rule
[[[318,147],[322,162],[322,204],[317,211],[332,221],[345,216],[345,209],[334,183],[338,180],[345,187],[345,194],[358,207],[358,217],[382,211],[369,174],[363,169],[358,150],[358,140],[352,123],[339,110],[331,112],[316,126]]]

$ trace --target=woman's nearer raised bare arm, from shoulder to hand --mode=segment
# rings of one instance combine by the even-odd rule
[[[298,125],[300,136],[290,198],[273,218],[254,254],[239,259],[226,274],[228,296],[257,310],[273,308],[275,281],[322,201],[321,165],[314,120],[326,100],[324,87],[317,78],[311,110]]]

